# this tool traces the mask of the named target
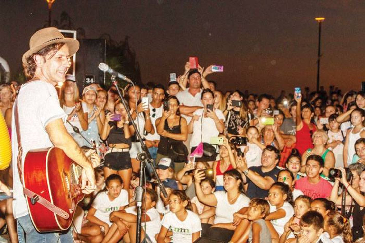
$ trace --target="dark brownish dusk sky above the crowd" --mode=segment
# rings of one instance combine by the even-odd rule
[[[55,0],[52,16],[66,11],[86,38],[130,36],[142,81],[166,84],[184,72],[189,56],[212,74],[218,89],[278,95],[316,85],[318,23],[322,24],[321,85],[360,89],[365,81],[363,1]],[[0,56],[16,72],[32,33],[48,20],[46,1],[0,0]]]

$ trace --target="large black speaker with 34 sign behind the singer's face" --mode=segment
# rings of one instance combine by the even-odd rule
[[[98,66],[105,62],[105,39],[79,39],[80,49],[76,54],[76,81],[80,96],[85,86],[91,83],[103,85],[105,74]]]

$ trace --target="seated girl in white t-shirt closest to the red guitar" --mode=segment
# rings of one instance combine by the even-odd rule
[[[123,180],[118,174],[111,174],[105,180],[107,191],[96,195],[88,211],[87,223],[81,227],[80,239],[101,242],[112,226],[110,213],[124,209],[128,205],[128,193],[123,190]]]

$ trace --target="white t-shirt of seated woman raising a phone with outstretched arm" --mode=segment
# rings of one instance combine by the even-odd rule
[[[234,204],[230,204],[227,198],[227,192],[217,191],[214,192],[217,200],[217,206],[215,209],[214,223],[231,223],[233,222],[233,214],[238,212],[241,208],[248,207],[250,198],[240,194]]]

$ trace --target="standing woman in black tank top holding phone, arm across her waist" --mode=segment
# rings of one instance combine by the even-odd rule
[[[160,134],[156,163],[163,157],[171,156],[171,143],[186,141],[188,138],[188,126],[184,117],[178,112],[179,101],[176,96],[169,96],[169,111],[164,111],[162,117],[156,120],[156,129]]]

